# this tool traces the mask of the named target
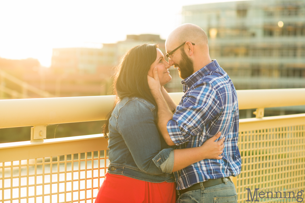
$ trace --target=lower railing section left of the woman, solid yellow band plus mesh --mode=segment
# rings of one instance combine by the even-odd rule
[[[0,200],[94,202],[107,171],[107,145],[100,134],[0,144]]]

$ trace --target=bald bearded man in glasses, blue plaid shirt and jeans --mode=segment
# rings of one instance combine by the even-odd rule
[[[156,68],[154,77],[149,77],[158,105],[158,127],[167,144],[185,149],[201,146],[219,131],[219,139],[226,136],[222,159],[204,159],[174,172],[177,202],[237,202],[235,186],[228,178],[241,170],[234,85],[217,61],[211,60],[206,33],[199,26],[178,26],[168,36],[165,48],[170,65],[178,68],[183,79],[185,93],[176,106],[160,90]]]

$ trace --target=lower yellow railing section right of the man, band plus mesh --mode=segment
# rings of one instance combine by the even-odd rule
[[[241,119],[238,146],[242,157],[241,173],[234,178],[238,202],[251,201],[256,193],[253,201],[285,201],[281,198],[287,191],[294,195],[286,200],[296,202],[297,192],[305,190],[305,114]],[[266,192],[269,196],[263,195]]]

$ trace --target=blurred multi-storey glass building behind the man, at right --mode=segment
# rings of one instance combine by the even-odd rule
[[[305,87],[305,0],[189,5],[182,19],[206,31],[211,58],[236,89]]]

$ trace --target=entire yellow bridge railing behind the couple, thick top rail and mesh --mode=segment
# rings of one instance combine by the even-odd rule
[[[238,202],[251,201],[255,188],[257,195],[269,190],[273,197],[274,191],[283,197],[284,188],[293,189],[296,202],[297,192],[305,190],[305,114],[264,117],[264,108],[305,105],[305,89],[237,94],[239,109],[258,112],[239,124],[242,172],[233,178]],[[183,93],[170,95],[178,103]],[[48,124],[104,120],[113,101],[114,96],[0,100],[0,128],[34,126],[32,142],[0,144],[0,201],[94,202],[107,171],[107,140],[101,134],[48,140],[39,136],[46,134],[43,127]]]

